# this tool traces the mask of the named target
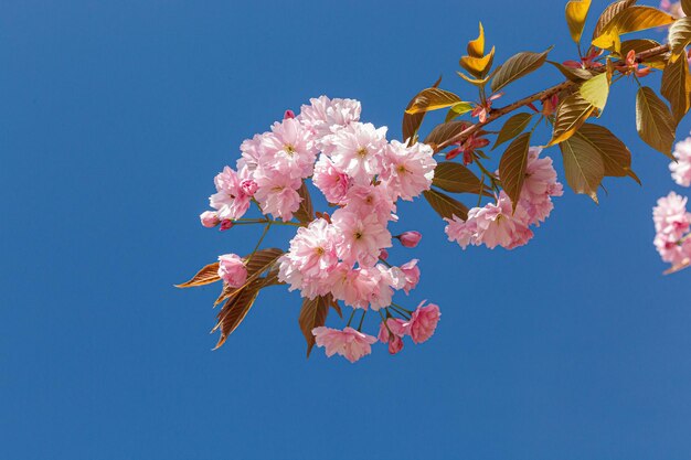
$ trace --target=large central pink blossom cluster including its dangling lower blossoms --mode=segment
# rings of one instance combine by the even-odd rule
[[[246,224],[242,218],[256,203],[273,223],[289,222],[304,197],[305,180],[323,194],[336,210],[297,229],[289,250],[278,260],[278,279],[304,298],[331,296],[364,312],[389,307],[395,291],[406,295],[417,286],[417,259],[401,266],[386,261],[393,238],[403,247],[415,247],[422,235],[405,232],[392,236],[389,223],[397,221],[398,200],[412,201],[429,190],[436,161],[429,146],[406,146],[386,140],[386,128],[360,121],[361,105],[353,99],[310,100],[299,115],[287,110],[270,131],[256,135],[241,146],[236,169],[225,167],[215,176],[216,193],[210,197],[214,211],[202,213],[205,227],[227,229]],[[257,220],[269,222],[268,220]],[[232,287],[247,279],[245,261],[234,254],[219,258],[219,276]],[[396,329],[415,343],[427,340],[439,318],[438,307],[422,304],[415,311],[394,310],[405,320]],[[351,317],[352,320],[352,317]],[[403,321],[403,320],[401,320]],[[329,356],[341,354],[354,362],[371,351],[376,338],[350,327],[315,328],[316,344]],[[382,334],[380,334],[382,335]],[[389,342],[389,339],[385,340]]]

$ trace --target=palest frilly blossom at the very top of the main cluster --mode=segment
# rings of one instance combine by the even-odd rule
[[[338,128],[360,120],[360,101],[354,99],[329,99],[327,96],[309,99],[310,105],[300,108],[298,119],[319,138]]]

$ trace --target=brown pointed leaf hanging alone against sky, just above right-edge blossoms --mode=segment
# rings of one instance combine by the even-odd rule
[[[636,94],[636,129],[648,146],[670,159],[674,143],[674,120],[665,103],[647,86]]]

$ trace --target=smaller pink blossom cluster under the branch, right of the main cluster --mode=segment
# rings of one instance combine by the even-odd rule
[[[468,245],[513,249],[527,244],[533,237],[530,226],[540,226],[554,208],[552,196],[563,194],[552,159],[539,158],[541,151],[539,147],[529,150],[525,181],[515,211],[509,195],[501,191],[497,203],[471,208],[466,221],[456,215],[447,218],[445,232],[449,240],[457,242],[464,249]]]

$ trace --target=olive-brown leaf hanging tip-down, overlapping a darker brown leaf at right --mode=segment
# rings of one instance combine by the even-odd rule
[[[597,188],[605,176],[602,154],[580,136],[573,136],[559,145],[564,158],[564,175],[568,186],[584,193],[597,203]]]

